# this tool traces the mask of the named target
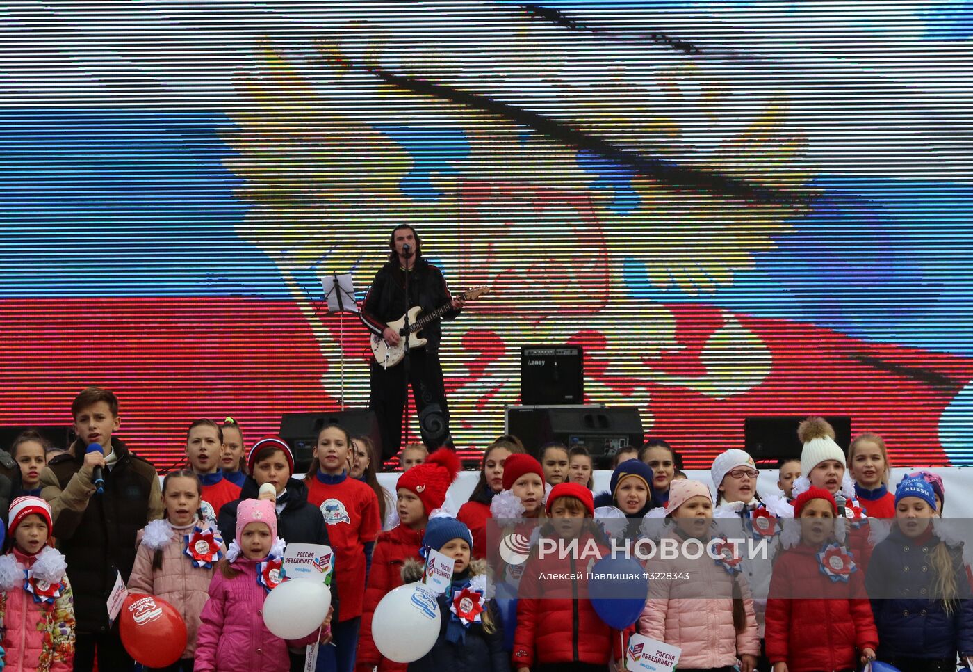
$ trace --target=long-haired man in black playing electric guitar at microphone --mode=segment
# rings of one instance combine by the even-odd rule
[[[402,317],[413,306],[420,307],[423,312],[431,312],[445,304],[450,304],[451,310],[442,317],[454,319],[459,315],[464,302],[450,295],[443,273],[422,258],[422,239],[413,227],[408,224],[395,227],[388,245],[391,249],[388,263],[379,269],[368,294],[365,295],[361,319],[388,346],[397,346],[403,337],[389,328],[387,322]],[[429,451],[439,448],[450,438],[450,410],[443,385],[443,367],[439,361],[441,336],[440,320],[435,319],[422,328],[422,337],[427,341],[425,347],[411,350],[408,361],[385,368],[372,359],[369,408],[378,417],[383,460],[391,458],[399,451],[402,442],[402,413],[409,384],[413,387],[422,440]]]

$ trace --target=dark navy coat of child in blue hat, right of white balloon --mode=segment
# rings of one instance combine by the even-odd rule
[[[500,614],[492,600],[487,603],[486,609],[496,629],[487,634],[482,625],[473,623],[466,630],[466,641],[462,645],[452,644],[446,639],[446,626],[451,616],[446,596],[440,595],[437,602],[443,615],[439,639],[432,651],[409,663],[409,672],[510,672],[510,652],[503,648]]]

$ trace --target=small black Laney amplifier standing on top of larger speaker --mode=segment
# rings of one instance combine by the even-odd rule
[[[585,364],[580,347],[521,348],[522,404],[580,404],[584,399]]]

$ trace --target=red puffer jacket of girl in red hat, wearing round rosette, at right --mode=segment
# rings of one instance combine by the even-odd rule
[[[799,543],[777,556],[764,631],[767,657],[786,662],[788,672],[857,669],[861,650],[879,647],[864,572],[832,581],[821,572],[817,551]]]

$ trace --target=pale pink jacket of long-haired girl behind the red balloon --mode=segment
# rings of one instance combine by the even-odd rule
[[[150,525],[166,525],[171,530],[171,538],[162,547],[161,570],[152,568],[152,559],[156,551],[144,543],[145,529],[140,530],[135,564],[128,578],[129,592],[161,597],[183,617],[187,633],[186,649],[181,656],[183,658],[192,658],[196,652],[199,615],[206,600],[209,599],[209,582],[213,579],[216,568],[216,562],[208,570],[196,567],[190,557],[183,552],[185,548],[183,538],[190,534],[197,524],[198,522],[195,522],[186,527],[175,527],[169,526],[162,520],[150,523]],[[224,552],[226,552],[225,547]]]

